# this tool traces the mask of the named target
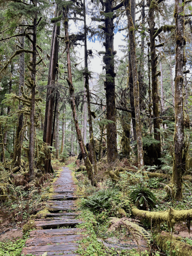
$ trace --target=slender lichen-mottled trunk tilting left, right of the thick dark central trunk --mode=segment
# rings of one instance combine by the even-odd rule
[[[141,118],[139,108],[139,82],[137,74],[137,61],[135,50],[135,36],[134,36],[134,24],[131,17],[131,2],[130,0],[124,1],[125,12],[127,15],[127,28],[129,30],[129,47],[131,52],[131,66],[133,72],[133,93],[134,93],[134,105],[135,105],[135,121],[136,121],[136,134],[137,134],[137,157],[138,157],[138,169],[144,165],[143,163],[143,143],[141,132]]]

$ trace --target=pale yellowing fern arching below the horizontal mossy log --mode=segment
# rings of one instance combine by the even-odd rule
[[[124,229],[127,233],[131,233],[134,239],[137,242],[139,254],[141,256],[141,251],[138,244],[138,239],[140,236],[144,237],[147,241],[149,251],[151,251],[150,242],[153,240],[151,234],[146,231],[143,227],[139,226],[136,222],[133,222],[133,219],[129,218],[110,218],[111,226],[108,231],[119,230],[119,232]]]

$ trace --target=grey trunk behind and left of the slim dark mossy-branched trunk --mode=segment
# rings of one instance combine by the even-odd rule
[[[22,22],[22,24],[24,24],[24,21]],[[24,33],[24,28],[22,27],[21,28],[21,33]],[[21,47],[24,48],[25,45],[24,45],[24,36],[22,36],[20,38],[20,42],[21,42]],[[24,85],[25,85],[25,53],[22,52],[20,54],[20,57],[19,57],[19,97],[22,96],[22,92],[21,92],[21,87],[23,86],[24,88]],[[23,105],[22,104],[19,104],[19,110],[21,110],[23,108]],[[23,112],[19,113],[18,114],[18,124],[17,124],[17,128],[16,128],[16,138],[15,138],[15,147],[14,147],[14,157],[13,157],[13,164],[15,164],[15,166],[21,166],[21,150],[22,150],[22,142],[23,142],[23,139],[22,137],[23,136],[20,136],[19,138],[19,133],[21,132],[23,128]],[[24,135],[24,131],[23,131],[23,134]],[[17,161],[16,161],[17,159]],[[15,162],[16,161],[16,162]]]

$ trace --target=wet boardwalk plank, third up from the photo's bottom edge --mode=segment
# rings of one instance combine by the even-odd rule
[[[79,228],[59,228],[59,229],[44,229],[30,231],[30,238],[32,237],[51,237],[51,236],[70,236],[83,232]]]

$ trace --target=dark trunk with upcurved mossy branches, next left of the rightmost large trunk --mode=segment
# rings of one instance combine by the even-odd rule
[[[158,99],[158,83],[157,83],[157,55],[155,49],[155,9],[153,7],[154,1],[149,0],[149,12],[148,23],[150,28],[150,42],[151,42],[151,84],[152,84],[152,102],[153,102],[153,128],[154,138],[159,141],[155,145],[157,151],[157,158],[161,158],[161,136],[160,136],[160,124],[159,124],[159,99]],[[161,165],[161,161],[157,160],[155,165]]]

